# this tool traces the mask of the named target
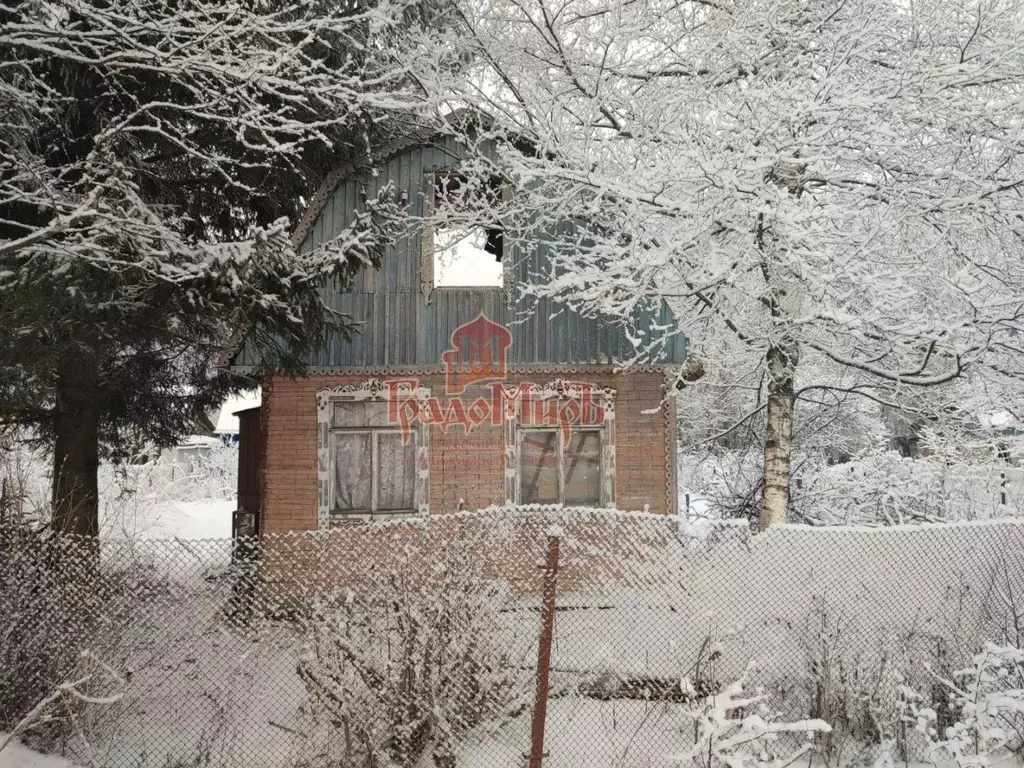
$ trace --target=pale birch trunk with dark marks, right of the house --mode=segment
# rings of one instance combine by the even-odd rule
[[[785,522],[790,513],[790,454],[793,451],[794,378],[800,350],[787,343],[768,347],[768,425],[765,433],[761,529]]]

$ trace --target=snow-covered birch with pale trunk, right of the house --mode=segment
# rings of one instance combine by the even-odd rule
[[[528,290],[620,318],[666,299],[731,339],[706,369],[751,356],[762,526],[786,518],[798,401],[1019,392],[1018,3],[469,0],[462,22],[475,76],[447,87],[501,145],[473,162],[514,186],[517,237],[558,241]]]

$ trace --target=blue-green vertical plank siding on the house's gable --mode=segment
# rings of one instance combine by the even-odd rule
[[[356,175],[339,184],[301,245],[308,250],[329,241],[348,226],[366,198],[375,197],[388,183],[409,201],[412,217],[421,213],[421,188],[426,174],[458,165],[454,141],[438,138],[429,146],[406,150],[382,162],[379,173]],[[515,284],[536,283],[547,273],[547,244],[539,242],[527,253],[514,248]],[[348,292],[325,286],[325,304],[349,315],[359,333],[350,339],[335,334],[308,359],[318,368],[432,367],[441,362],[452,332],[480,312],[512,333],[510,365],[606,364],[632,358],[634,349],[622,327],[613,321],[585,318],[548,299],[515,298],[507,304],[498,288],[434,289],[426,301],[420,291],[419,232],[408,231],[391,244],[380,269],[364,270]],[[513,296],[516,292],[513,291]],[[660,328],[675,325],[664,303],[634,319],[642,334],[657,337]],[[673,336],[663,353],[645,362],[682,362],[685,339]],[[244,348],[236,366],[249,368],[258,360]]]

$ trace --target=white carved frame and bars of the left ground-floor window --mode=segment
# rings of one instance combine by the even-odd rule
[[[415,397],[422,402],[430,396],[426,387],[413,390],[409,386],[399,387],[399,393]],[[387,403],[390,389],[381,379],[369,379],[359,384],[319,389],[316,391],[316,524],[321,529],[330,528],[333,523],[347,520],[388,520],[401,517],[426,516],[430,513],[430,463],[429,433],[427,425],[419,420],[411,425],[410,439],[413,440],[413,455],[416,466],[413,478],[414,506],[412,509],[375,510],[378,504],[379,478],[373,471],[376,463],[376,450],[379,438],[375,433],[400,434],[397,425],[381,426],[334,426],[334,406],[339,402],[380,402]],[[335,498],[335,435],[340,433],[366,434],[370,437],[371,462],[371,509],[353,510],[337,513],[334,509]]]

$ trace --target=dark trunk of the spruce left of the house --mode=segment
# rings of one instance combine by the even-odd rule
[[[99,534],[98,376],[91,355],[67,355],[57,375],[53,524],[63,534]]]

